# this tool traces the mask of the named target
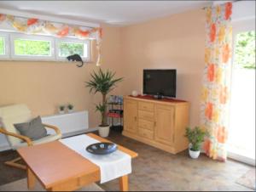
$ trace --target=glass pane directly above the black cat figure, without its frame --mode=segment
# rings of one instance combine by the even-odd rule
[[[61,42],[59,48],[60,57],[67,57],[72,54],[79,54],[81,57],[88,56],[87,44],[85,43]]]

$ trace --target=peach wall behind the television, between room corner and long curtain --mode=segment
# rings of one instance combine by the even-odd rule
[[[190,125],[198,125],[204,18],[203,10],[194,10],[122,28],[123,93],[142,92],[143,69],[177,69],[177,99],[189,101]]]

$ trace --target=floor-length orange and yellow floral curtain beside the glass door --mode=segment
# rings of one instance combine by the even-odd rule
[[[209,133],[203,146],[212,159],[225,161],[228,136],[232,3],[207,8],[201,127]]]

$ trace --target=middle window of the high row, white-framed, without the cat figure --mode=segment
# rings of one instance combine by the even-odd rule
[[[54,59],[54,39],[43,36],[11,35],[11,57],[13,59]]]

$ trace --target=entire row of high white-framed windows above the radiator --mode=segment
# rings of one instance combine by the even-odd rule
[[[0,31],[0,59],[65,61],[72,54],[90,61],[90,40]]]

